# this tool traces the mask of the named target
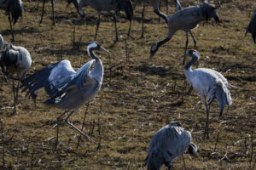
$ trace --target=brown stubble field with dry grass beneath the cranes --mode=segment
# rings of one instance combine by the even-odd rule
[[[134,39],[126,38],[129,21],[121,13],[117,23],[119,42],[113,43],[113,18],[102,16],[96,40],[112,53],[97,53],[105,69],[102,89],[71,118],[79,128],[84,122],[84,133],[89,133],[96,144],[83,138],[78,144],[79,134],[63,121],[61,144],[53,151],[55,118],[61,111],[45,106],[48,96],[40,90],[37,107],[20,93],[18,114],[12,115],[11,81],[0,74],[0,168],[146,169],[144,159],[151,137],[160,127],[177,121],[192,133],[199,147],[195,156],[185,154],[187,169],[252,169],[256,162],[256,46],[251,35],[244,37],[244,33],[256,3],[220,2],[221,5],[214,1],[220,5],[220,25],[212,26],[212,21],[201,23],[192,31],[201,54],[198,67],[221,71],[237,87],[230,90],[233,105],[230,111],[225,108],[221,118],[218,119],[216,100],[212,103],[210,139],[203,139],[206,113],[201,98],[195,91],[189,92],[189,82],[184,81],[181,63],[185,32],[177,31],[150,60],[150,47],[166,37],[167,26],[147,6],[145,37],[140,38],[142,5],[137,4],[131,26]],[[196,2],[181,3],[184,8]],[[58,0],[56,26],[52,26],[50,3],[46,3],[43,24],[39,26],[42,2],[23,4],[24,16],[14,26],[14,44],[25,47],[32,55],[28,74],[61,59],[69,59],[75,69],[90,60],[86,47],[94,40],[95,10],[84,8],[85,18],[80,18],[73,4],[66,8],[67,3]],[[170,5],[169,15],[175,10],[172,2]],[[161,10],[166,13],[164,3]],[[9,22],[3,10],[0,23],[0,33],[9,42]],[[193,47],[189,37],[189,48]],[[173,167],[184,168],[182,157],[173,161]]]

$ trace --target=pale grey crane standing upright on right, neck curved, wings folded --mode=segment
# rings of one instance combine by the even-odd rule
[[[207,121],[205,127],[204,137],[207,135],[209,139],[209,111],[213,99],[218,100],[220,108],[219,116],[222,116],[225,105],[232,104],[230,96],[230,85],[227,79],[218,71],[212,69],[199,68],[192,71],[191,65],[194,65],[200,58],[199,53],[195,49],[189,50],[188,55],[192,58],[184,67],[184,73],[187,80],[192,84],[195,91],[200,94],[207,110]],[[208,98],[208,104],[207,104]]]

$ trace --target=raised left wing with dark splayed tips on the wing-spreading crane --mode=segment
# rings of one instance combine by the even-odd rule
[[[62,88],[75,74],[70,61],[62,60],[53,65],[48,65],[44,69],[37,71],[30,77],[22,81],[22,92],[27,91],[26,96],[34,94],[39,88],[44,88],[46,93],[52,98],[59,89]]]

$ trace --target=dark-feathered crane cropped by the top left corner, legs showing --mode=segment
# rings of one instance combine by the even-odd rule
[[[13,25],[23,14],[23,6],[21,0],[0,0],[0,9],[5,10],[5,14],[8,15],[9,27],[12,32],[12,42],[15,41]]]

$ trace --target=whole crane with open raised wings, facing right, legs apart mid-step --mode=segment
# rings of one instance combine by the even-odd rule
[[[93,139],[90,139],[90,137],[79,130],[78,127],[75,127],[69,122],[68,119],[72,116],[74,111],[94,97],[102,87],[103,65],[101,59],[98,59],[94,54],[94,50],[100,49],[108,52],[108,50],[102,48],[98,42],[90,43],[87,47],[87,51],[92,60],[83,65],[79,71],[73,70],[69,60],[62,60],[45,67],[41,71],[27,77],[22,82],[22,92],[27,91],[26,96],[32,95],[39,88],[44,88],[50,97],[44,104],[64,110],[64,113],[56,118],[57,133],[55,146],[58,145],[59,121],[68,111],[70,111],[70,113],[65,122],[84,135],[88,141],[94,142]],[[95,63],[94,68],[90,71],[90,67],[93,63]]]

